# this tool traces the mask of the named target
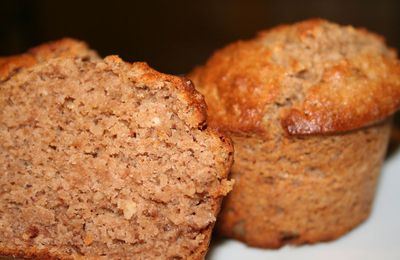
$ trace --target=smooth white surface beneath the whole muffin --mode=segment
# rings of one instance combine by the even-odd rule
[[[212,243],[207,260],[400,260],[400,151],[384,164],[370,218],[342,238],[263,250],[234,240]]]

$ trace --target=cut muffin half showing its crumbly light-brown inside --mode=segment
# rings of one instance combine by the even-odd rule
[[[67,41],[3,58],[0,255],[202,259],[232,162],[203,97]]]

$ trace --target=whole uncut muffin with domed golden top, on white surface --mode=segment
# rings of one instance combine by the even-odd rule
[[[189,78],[235,146],[222,235],[277,248],[338,238],[368,217],[400,104],[399,61],[380,36],[322,19],[282,25]]]

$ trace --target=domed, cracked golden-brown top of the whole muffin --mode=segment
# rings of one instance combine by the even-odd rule
[[[335,133],[400,106],[400,63],[384,39],[322,19],[282,25],[216,51],[189,77],[212,124],[234,132]]]

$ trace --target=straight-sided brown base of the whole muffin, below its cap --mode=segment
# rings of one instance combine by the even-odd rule
[[[334,135],[231,134],[233,191],[217,229],[250,246],[333,240],[369,216],[391,120]]]

